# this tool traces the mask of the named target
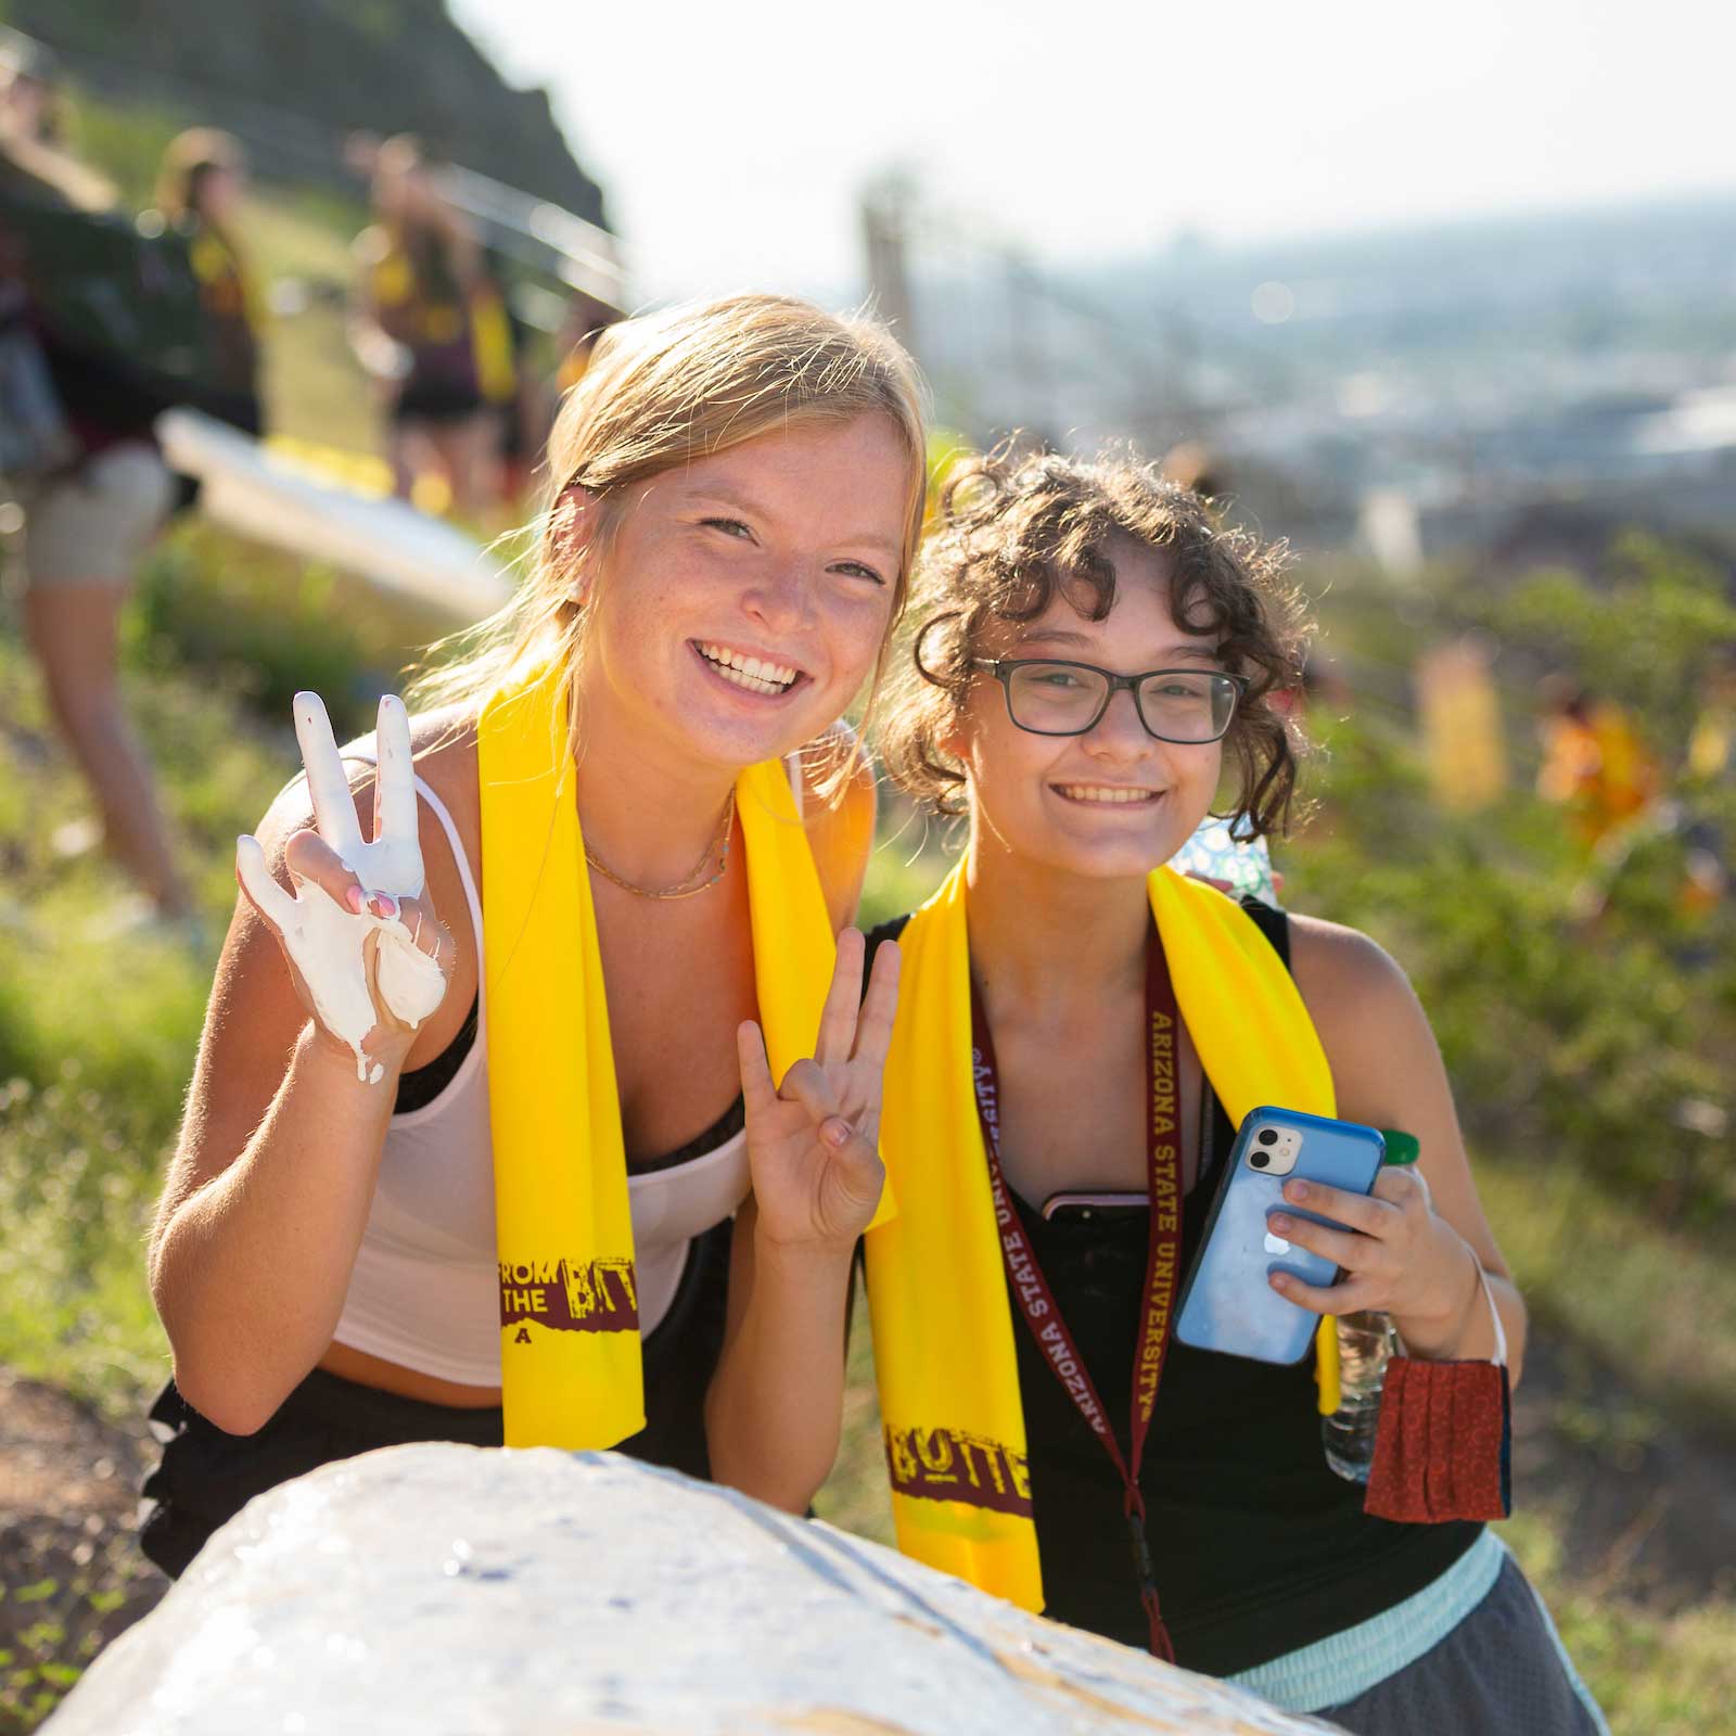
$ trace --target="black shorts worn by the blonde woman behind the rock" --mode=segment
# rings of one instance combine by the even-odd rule
[[[731,1220],[689,1245],[675,1297],[644,1340],[646,1427],[618,1453],[710,1477],[705,1392],[724,1344]],[[151,1406],[163,1458],[144,1483],[139,1547],[179,1578],[205,1540],[255,1495],[339,1458],[411,1441],[500,1446],[500,1406],[427,1404],[316,1368],[257,1434],[226,1434],[174,1382]]]

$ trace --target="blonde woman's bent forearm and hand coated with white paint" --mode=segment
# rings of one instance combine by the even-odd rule
[[[295,726],[314,826],[281,847],[293,891],[240,840],[245,896],[149,1250],[175,1382],[231,1434],[262,1427],[332,1342],[398,1075],[457,962],[425,896],[403,703],[380,701],[372,842],[318,696],[297,696]]]

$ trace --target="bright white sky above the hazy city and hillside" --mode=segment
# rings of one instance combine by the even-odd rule
[[[644,297],[865,288],[858,198],[1047,266],[1736,191],[1726,0],[450,0],[547,85]]]

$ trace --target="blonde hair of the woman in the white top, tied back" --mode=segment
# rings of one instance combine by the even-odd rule
[[[910,455],[910,509],[875,665],[878,684],[922,536],[920,375],[891,332],[871,319],[828,314],[793,297],[734,295],[625,319],[597,339],[549,436],[549,476],[542,510],[528,528],[524,582],[479,627],[431,649],[437,656],[457,646],[462,656],[446,667],[424,665],[410,687],[413,708],[479,707],[509,672],[543,658],[559,658],[562,698],[569,696],[587,628],[576,561],[608,550],[637,484],[774,429],[863,415],[887,417]],[[582,556],[561,535],[559,503],[573,486],[597,507]]]

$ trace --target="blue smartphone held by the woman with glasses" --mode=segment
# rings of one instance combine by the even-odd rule
[[[1338,1267],[1274,1236],[1266,1217],[1281,1208],[1292,1217],[1342,1229],[1333,1219],[1288,1205],[1285,1182],[1299,1175],[1364,1194],[1375,1186],[1384,1156],[1385,1141],[1358,1121],[1328,1121],[1299,1109],[1250,1111],[1231,1147],[1200,1257],[1182,1290],[1175,1337],[1198,1351],[1252,1356],[1262,1363],[1302,1361],[1319,1316],[1285,1300],[1267,1278],[1281,1267],[1307,1285],[1330,1285]]]

